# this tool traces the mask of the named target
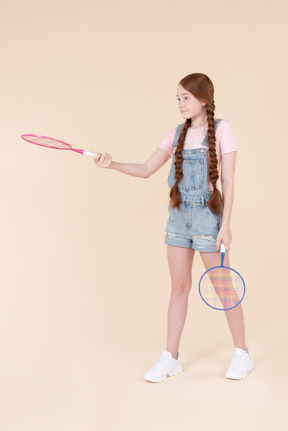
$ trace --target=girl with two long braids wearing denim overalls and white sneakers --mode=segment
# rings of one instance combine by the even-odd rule
[[[230,266],[232,240],[230,216],[234,194],[237,144],[230,123],[214,119],[214,86],[203,73],[192,73],[177,87],[178,107],[184,123],[172,129],[143,164],[112,161],[108,153],[98,154],[101,168],[149,178],[172,157],[168,177],[169,218],[166,225],[171,296],[168,307],[167,350],[144,374],[149,382],[160,382],[182,372],[178,351],[192,287],[191,271],[195,250],[205,269],[219,265],[220,243],[225,245],[224,266]],[[221,161],[222,193],[217,189]],[[253,369],[245,342],[241,303],[225,311],[234,350],[225,377],[243,379]]]

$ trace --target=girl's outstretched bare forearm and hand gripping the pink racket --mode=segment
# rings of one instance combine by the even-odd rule
[[[134,177],[149,178],[154,172],[158,171],[170,158],[167,151],[157,148],[156,151],[146,160],[145,163],[120,163],[114,162],[109,153],[98,153],[94,157],[94,162],[100,168],[115,169],[123,174]]]

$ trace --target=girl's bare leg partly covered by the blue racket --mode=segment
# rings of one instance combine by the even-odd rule
[[[221,265],[221,256],[219,252],[200,252],[200,255],[206,271],[209,268]],[[230,266],[229,251],[225,251],[223,265]],[[248,352],[245,342],[244,316],[241,303],[231,310],[225,310],[225,315],[233,337],[234,347],[240,347],[241,349]]]

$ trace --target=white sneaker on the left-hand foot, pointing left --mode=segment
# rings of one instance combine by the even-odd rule
[[[182,371],[180,354],[178,353],[178,359],[174,359],[170,352],[164,350],[153,367],[146,371],[144,379],[153,383],[162,382],[167,376],[175,376],[175,374],[179,374]]]

